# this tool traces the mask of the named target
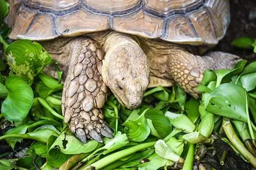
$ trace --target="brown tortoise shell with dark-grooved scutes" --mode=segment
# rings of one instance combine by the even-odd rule
[[[228,0],[9,0],[11,39],[50,40],[103,30],[185,44],[217,44]]]

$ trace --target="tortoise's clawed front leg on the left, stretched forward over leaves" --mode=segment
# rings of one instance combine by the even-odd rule
[[[62,114],[83,143],[87,138],[102,142],[101,136],[113,137],[101,110],[108,89],[101,77],[103,53],[84,37],[72,40],[70,45],[72,54],[62,92]]]

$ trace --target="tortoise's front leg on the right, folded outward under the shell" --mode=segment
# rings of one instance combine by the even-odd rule
[[[206,69],[232,68],[239,60],[238,56],[223,52],[211,52],[200,57],[174,48],[168,55],[152,57],[150,67],[154,76],[175,80],[186,92],[199,98],[197,86]]]

